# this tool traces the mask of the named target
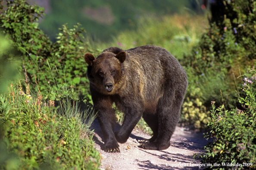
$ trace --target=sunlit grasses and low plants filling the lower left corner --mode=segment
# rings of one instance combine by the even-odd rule
[[[59,109],[44,98],[40,91],[33,94],[26,88],[24,92],[20,82],[0,95],[0,169],[97,169],[100,155],[88,134],[91,113],[68,98]],[[84,119],[85,114],[91,121]]]

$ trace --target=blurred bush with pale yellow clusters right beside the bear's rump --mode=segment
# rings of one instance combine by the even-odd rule
[[[208,103],[211,100],[217,100],[216,104],[224,103],[230,108],[233,103],[236,103],[236,100],[230,98],[230,95],[238,97],[238,94],[234,88],[230,88],[225,74],[222,72],[207,71],[205,74],[194,76],[193,68],[189,67],[186,70],[189,86],[182,105],[180,124],[191,128],[205,129],[210,119]],[[228,102],[226,102],[227,100]]]

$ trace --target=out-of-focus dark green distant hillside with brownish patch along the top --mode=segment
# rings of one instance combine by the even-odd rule
[[[200,2],[202,0],[199,0]],[[124,30],[134,30],[140,18],[174,13],[201,12],[198,0],[50,0],[50,12],[39,24],[52,40],[58,28],[68,23],[83,25],[93,39],[109,42]]]

